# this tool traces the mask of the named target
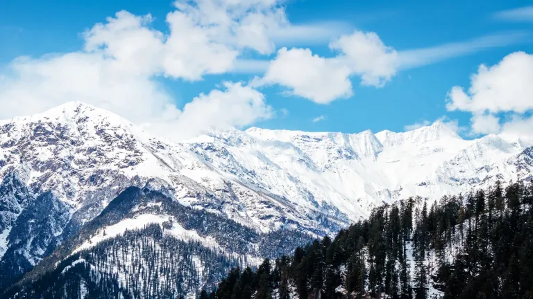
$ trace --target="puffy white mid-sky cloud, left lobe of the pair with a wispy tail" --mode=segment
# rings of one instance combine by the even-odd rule
[[[309,49],[281,48],[257,84],[280,84],[296,96],[327,104],[351,96],[349,75],[348,66],[313,55]]]

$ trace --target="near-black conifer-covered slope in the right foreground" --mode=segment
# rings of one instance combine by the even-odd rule
[[[201,299],[533,298],[533,187],[420,197],[375,208],[369,219],[294,255],[232,269]]]

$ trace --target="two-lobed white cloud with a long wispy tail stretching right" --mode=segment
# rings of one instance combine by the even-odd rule
[[[489,35],[467,42],[429,48],[396,51],[376,33],[355,31],[330,43],[335,57],[313,55],[310,49],[282,48],[269,64],[260,60],[238,62],[239,72],[260,72],[266,67],[261,84],[280,84],[290,93],[313,102],[327,104],[353,94],[350,79],[360,77],[362,85],[383,87],[400,69],[410,69],[450,57],[504,46],[523,39],[523,33]],[[455,89],[454,89],[455,92]]]

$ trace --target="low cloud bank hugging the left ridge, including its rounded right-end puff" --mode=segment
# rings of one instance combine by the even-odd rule
[[[183,112],[157,81],[110,71],[99,55],[71,53],[48,60],[21,59],[0,77],[0,118],[33,114],[71,100],[108,109],[151,132],[177,140],[214,128],[243,127],[273,116],[259,91],[226,82],[223,90],[201,94]]]

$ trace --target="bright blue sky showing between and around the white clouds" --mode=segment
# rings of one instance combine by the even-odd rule
[[[291,92],[290,86],[273,78],[268,84],[253,86],[264,95],[264,105],[271,109],[269,116],[231,124],[347,133],[365,129],[400,132],[408,125],[431,123],[446,117],[448,121],[457,120],[459,126],[465,128],[462,130],[464,136],[488,133],[489,130],[473,132],[470,129],[473,125],[471,118],[479,111],[447,109],[447,94],[454,86],[468,89],[471,75],[477,73],[480,64],[493,66],[516,51],[533,53],[533,14],[531,19],[527,14],[522,17],[516,15],[527,9],[531,4],[529,1],[465,2],[292,0],[276,3],[276,8],[282,8],[291,26],[312,25],[313,28],[324,28],[326,33],[307,39],[273,37],[276,42],[274,51],[264,54],[251,49],[239,50],[239,60],[259,60],[266,68],[271,60],[276,60],[277,51],[283,46],[289,49],[308,48],[314,55],[335,59],[339,53],[328,47],[330,42],[356,30],[375,33],[384,45],[398,53],[448,46],[441,50],[433,48],[432,55],[437,56],[420,63],[425,65],[398,66],[394,75],[379,87],[360,84],[361,75],[355,72],[355,75],[349,76],[352,85],[350,96],[340,96],[328,100],[328,103],[297,96]],[[146,26],[169,34],[165,18],[169,12],[176,10],[171,1],[54,1],[53,5],[43,1],[3,1],[1,6],[0,65],[3,80],[11,84],[8,87],[17,85],[15,80],[20,76],[11,66],[17,57],[46,60],[50,56],[83,51],[86,41],[82,33],[97,23],[105,24],[106,17],[112,17],[120,10],[137,16],[151,14],[153,21]],[[514,10],[515,15],[502,15],[510,10]],[[312,32],[312,35],[315,34]],[[481,46],[477,43],[476,46],[476,41],[484,39],[490,42],[481,42]],[[458,44],[450,47],[452,43]],[[256,76],[262,78],[264,72],[233,69],[217,74],[204,73],[195,80],[172,75],[154,75],[152,79],[176,108],[183,110],[184,105],[200,93],[209,94],[212,89],[221,89],[222,82],[240,81],[246,85]],[[38,84],[38,79],[37,83],[35,80],[31,82]],[[72,94],[76,96],[76,93]],[[12,101],[11,98],[8,100]],[[52,100],[48,102],[49,105],[55,103]],[[46,108],[46,105],[43,107]],[[480,113],[497,116],[503,125],[516,115],[530,117],[530,110],[528,107],[519,111],[513,107],[500,110],[485,107]],[[4,115],[15,116],[24,112],[21,109],[10,115],[7,111]],[[313,121],[320,116],[321,120]]]

